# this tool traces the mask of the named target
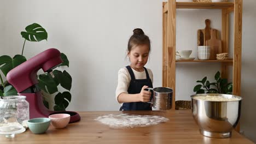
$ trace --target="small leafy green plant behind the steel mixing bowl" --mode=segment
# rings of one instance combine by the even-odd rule
[[[207,77],[203,77],[203,79],[200,81],[196,81],[199,82],[201,84],[196,85],[194,87],[194,92],[196,92],[196,94],[200,94],[200,93],[222,93],[222,94],[232,94],[232,88],[233,85],[232,83],[228,83],[228,79],[222,79],[220,77],[220,73],[219,71],[217,71],[217,73],[214,76],[214,79],[216,80],[216,82],[210,82],[207,80]]]

